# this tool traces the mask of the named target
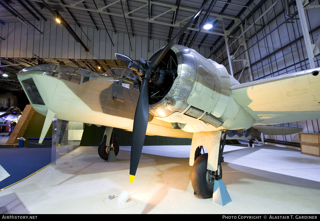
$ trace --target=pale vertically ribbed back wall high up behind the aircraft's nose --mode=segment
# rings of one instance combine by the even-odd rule
[[[141,36],[131,36],[130,48],[129,39],[126,33],[114,33],[109,31],[114,46],[108,37],[106,30],[96,30],[71,24],[70,27],[81,38],[84,45],[89,47],[89,52],[85,52],[84,47],[69,34],[67,29],[55,21],[30,21],[39,30],[27,28],[21,22],[9,22],[1,25],[1,37],[6,40],[1,41],[1,57],[21,57],[31,58],[33,54],[42,58],[57,59],[112,59],[115,60],[115,53],[125,54],[134,60],[143,58],[148,60],[154,52],[164,47],[166,40],[150,39],[148,50],[148,38]],[[88,40],[90,39],[90,41]],[[194,49],[204,57],[211,54],[209,48]]]

